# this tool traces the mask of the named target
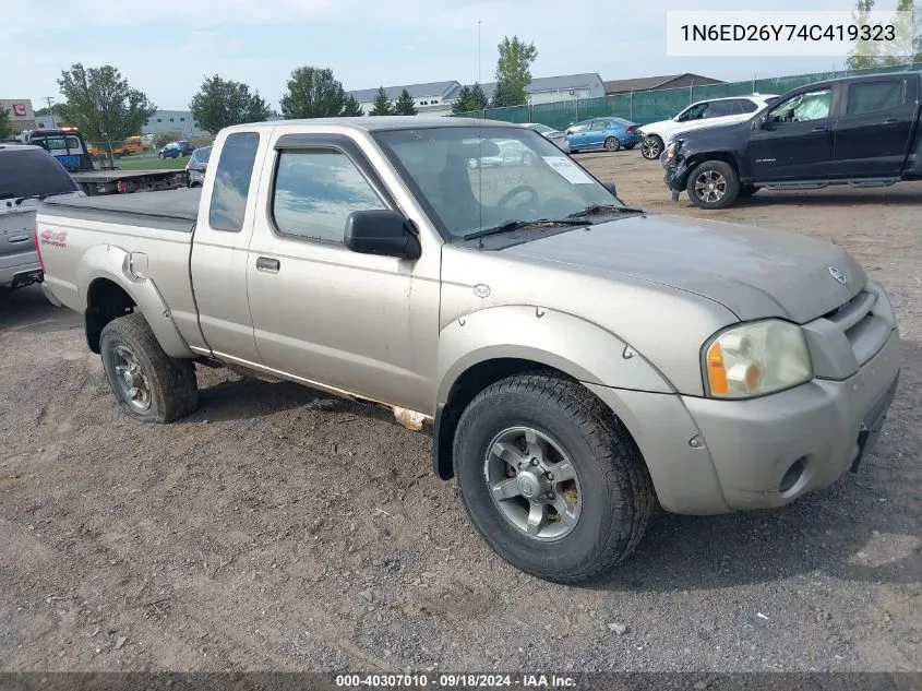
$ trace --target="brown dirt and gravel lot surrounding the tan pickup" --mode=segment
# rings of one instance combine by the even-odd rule
[[[636,151],[580,158],[630,204],[699,213]],[[900,393],[860,474],[781,511],[661,514],[588,587],[495,557],[432,476],[428,432],[207,369],[194,416],[134,424],[79,318],[8,297],[0,666],[922,670],[922,187],[761,192],[707,216],[854,252],[899,315]]]

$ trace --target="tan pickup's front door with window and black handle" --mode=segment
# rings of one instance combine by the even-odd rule
[[[352,139],[283,134],[274,150],[247,261],[262,362],[306,383],[428,410],[439,252],[423,248],[408,261],[346,248],[351,212],[397,209]]]

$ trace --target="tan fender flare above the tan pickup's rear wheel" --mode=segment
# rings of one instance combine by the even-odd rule
[[[179,333],[169,307],[154,282],[151,278],[139,278],[131,272],[129,252],[113,245],[97,245],[86,250],[76,275],[77,294],[84,310],[89,300],[89,286],[98,278],[111,281],[131,296],[164,353],[176,358],[195,357]]]

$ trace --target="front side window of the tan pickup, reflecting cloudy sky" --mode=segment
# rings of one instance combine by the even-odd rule
[[[278,155],[272,215],[278,231],[342,242],[354,211],[385,209],[346,154],[333,148],[290,150]]]

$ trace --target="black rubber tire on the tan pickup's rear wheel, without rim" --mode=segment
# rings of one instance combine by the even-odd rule
[[[199,385],[192,360],[169,357],[141,312],[113,319],[103,329],[99,350],[106,379],[125,415],[144,422],[171,422],[199,406]],[[116,371],[124,352],[133,356],[148,390],[146,409],[133,405]]]

